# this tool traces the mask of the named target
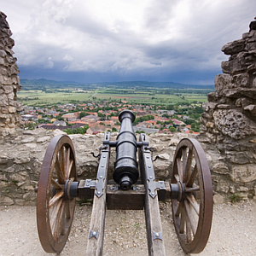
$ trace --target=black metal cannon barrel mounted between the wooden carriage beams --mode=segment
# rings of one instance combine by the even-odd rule
[[[121,189],[130,189],[137,182],[137,139],[132,123],[135,114],[130,110],[119,113],[121,128],[116,141],[116,161],[114,163],[113,180],[119,183]]]

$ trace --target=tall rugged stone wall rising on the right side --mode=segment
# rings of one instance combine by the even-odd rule
[[[219,192],[234,197],[256,195],[256,30],[225,44],[230,55],[214,80],[201,117],[201,142],[220,154],[212,180]],[[254,24],[255,25],[255,24]],[[254,27],[254,28],[253,28]]]

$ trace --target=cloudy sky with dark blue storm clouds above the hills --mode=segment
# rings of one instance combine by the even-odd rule
[[[8,0],[20,79],[214,84],[252,0]]]

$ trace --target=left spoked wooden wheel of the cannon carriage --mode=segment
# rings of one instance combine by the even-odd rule
[[[76,178],[71,139],[66,135],[54,137],[44,155],[38,183],[38,235],[47,253],[60,253],[67,241],[75,208],[67,188]]]

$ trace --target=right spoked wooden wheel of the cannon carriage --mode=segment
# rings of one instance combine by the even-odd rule
[[[201,253],[211,231],[213,191],[207,157],[195,139],[184,138],[177,145],[171,183],[179,191],[172,197],[178,241],[185,253]]]

